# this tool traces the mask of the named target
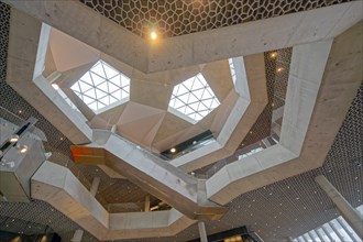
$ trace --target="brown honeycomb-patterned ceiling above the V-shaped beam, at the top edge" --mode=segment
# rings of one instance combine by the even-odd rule
[[[349,1],[80,0],[141,37],[146,37],[151,28],[156,28],[164,37],[173,37]]]

